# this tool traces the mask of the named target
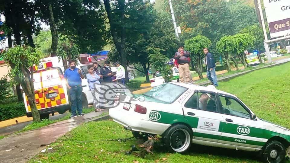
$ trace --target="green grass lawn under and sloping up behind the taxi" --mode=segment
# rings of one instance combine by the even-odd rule
[[[290,63],[257,70],[220,82],[218,89],[237,95],[257,117],[290,128]],[[121,125],[106,120],[86,123],[50,145],[52,151],[35,156],[30,162],[259,162],[256,153],[192,145],[184,154],[167,153],[160,144],[154,146],[154,155],[138,158],[124,155],[136,140],[127,142],[78,142],[129,138],[132,134]],[[162,158],[165,161],[160,161]]]

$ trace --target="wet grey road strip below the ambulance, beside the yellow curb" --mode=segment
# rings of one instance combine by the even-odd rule
[[[57,114],[54,116],[50,116],[50,120],[58,120],[62,117],[65,117],[69,112],[63,113],[63,114]],[[15,133],[16,131],[21,131],[25,126],[28,124],[32,123],[33,121],[28,121],[28,122],[22,122],[22,123],[17,123],[15,125],[7,126],[7,127],[1,127],[0,128],[0,136],[6,136],[10,135],[12,133]]]

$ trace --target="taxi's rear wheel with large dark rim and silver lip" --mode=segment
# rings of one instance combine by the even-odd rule
[[[182,124],[171,126],[162,136],[164,145],[171,152],[186,152],[192,143],[192,129]]]

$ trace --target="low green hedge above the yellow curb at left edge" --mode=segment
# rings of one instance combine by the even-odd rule
[[[21,117],[26,114],[23,103],[0,104],[0,121]]]

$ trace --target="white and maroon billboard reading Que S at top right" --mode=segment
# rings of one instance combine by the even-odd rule
[[[290,1],[264,0],[271,38],[290,34]]]

